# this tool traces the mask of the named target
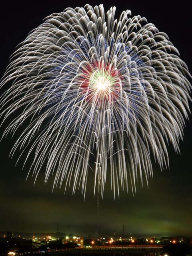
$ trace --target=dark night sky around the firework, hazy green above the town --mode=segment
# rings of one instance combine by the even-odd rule
[[[0,74],[8,64],[9,56],[43,18],[66,7],[84,6],[88,1],[10,1],[1,6]],[[124,3],[125,2],[125,3]],[[95,5],[104,3],[106,10],[115,5],[117,13],[132,10],[133,15],[145,16],[163,32],[166,32],[181,58],[192,70],[191,9],[188,1],[117,1],[109,3],[90,1]],[[192,109],[192,108],[191,108]],[[131,191],[121,192],[120,200],[114,200],[110,180],[106,185],[104,199],[100,201],[100,234],[125,232],[144,235],[190,235],[192,236],[192,118],[186,122],[184,142],[180,143],[181,155],[169,148],[170,170],[160,171],[154,165],[154,178],[149,188],[144,182],[137,184],[134,197]],[[3,129],[0,130],[2,135]],[[96,199],[93,198],[93,180],[90,177],[84,198],[79,191],[72,196],[64,194],[64,188],[52,192],[52,179],[44,185],[40,174],[35,186],[33,178],[25,182],[28,166],[22,171],[22,162],[15,167],[18,152],[11,160],[9,152],[15,138],[4,138],[0,143],[0,230],[23,232],[56,232],[59,222],[61,232],[82,235],[96,234]]]

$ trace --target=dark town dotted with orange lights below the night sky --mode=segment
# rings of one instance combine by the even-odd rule
[[[58,223],[57,223],[58,228]],[[124,225],[122,226],[124,232]],[[25,236],[25,237],[23,237]],[[167,255],[172,250],[174,255],[190,253],[189,237],[161,237],[136,238],[132,234],[122,233],[94,237],[88,235],[77,236],[75,234],[55,233],[14,233],[1,232],[1,255],[22,256],[60,254],[72,255]]]

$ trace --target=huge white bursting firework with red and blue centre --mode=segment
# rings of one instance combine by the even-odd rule
[[[85,194],[89,172],[103,196],[152,176],[151,157],[168,168],[167,145],[179,151],[188,118],[190,77],[168,36],[146,18],[102,5],[48,16],[11,58],[1,86],[3,134],[27,127],[11,154],[32,154],[29,172],[46,168],[54,186]],[[94,160],[93,160],[94,159]],[[94,162],[94,165],[91,162]],[[108,168],[107,168],[108,167]]]

